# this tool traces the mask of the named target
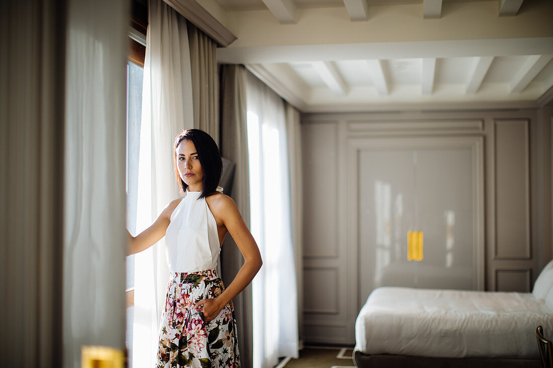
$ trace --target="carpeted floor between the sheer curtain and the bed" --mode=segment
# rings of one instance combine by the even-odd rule
[[[299,359],[290,359],[284,368],[354,368],[352,348],[306,347]]]

